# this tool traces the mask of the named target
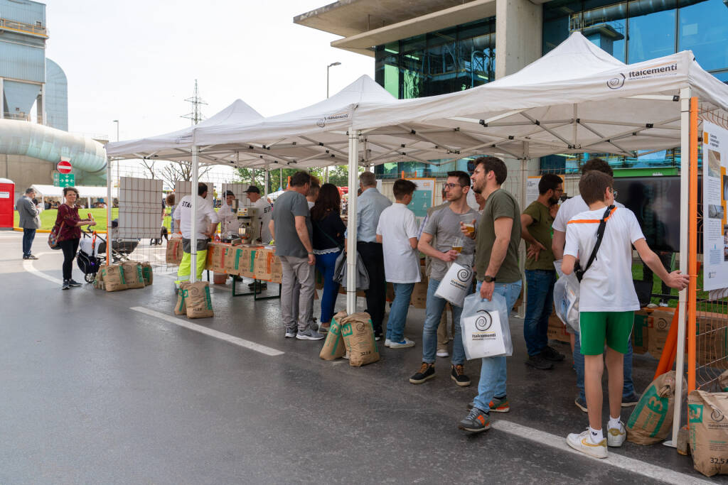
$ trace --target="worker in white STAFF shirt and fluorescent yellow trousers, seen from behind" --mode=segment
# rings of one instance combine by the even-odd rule
[[[200,182],[197,186],[197,234],[195,244],[197,245],[197,280],[202,279],[202,270],[207,262],[207,241],[213,237],[218,228],[218,213],[213,209],[213,204],[207,201],[207,184]],[[184,196],[175,209],[174,220],[176,227],[182,233],[182,262],[177,271],[179,284],[189,280],[190,257],[192,251],[192,196]]]

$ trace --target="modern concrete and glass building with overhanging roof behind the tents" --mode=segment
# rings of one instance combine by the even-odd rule
[[[703,68],[728,82],[728,0],[339,0],[293,21],[341,36],[333,47],[374,57],[376,81],[400,99],[515,73],[574,31],[624,63],[690,49]],[[594,155],[544,157],[539,168],[573,172]],[[679,150],[599,155],[620,175],[676,175],[680,161]],[[464,169],[467,161],[398,162],[376,173],[438,177],[455,167]]]

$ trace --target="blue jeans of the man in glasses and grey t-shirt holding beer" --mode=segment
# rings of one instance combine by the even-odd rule
[[[430,278],[427,284],[427,304],[425,307],[424,327],[422,329],[422,361],[427,364],[435,364],[436,353],[438,352],[438,326],[443,316],[445,304],[448,300],[436,297],[440,281]],[[459,366],[465,362],[465,350],[462,348],[462,336],[460,329],[460,315],[462,307],[450,304],[453,308],[453,365]]]

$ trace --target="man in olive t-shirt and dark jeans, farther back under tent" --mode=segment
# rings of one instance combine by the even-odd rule
[[[563,181],[554,174],[539,180],[539,197],[521,215],[521,237],[529,245],[526,258],[526,319],[523,320],[523,339],[529,358],[526,364],[536,369],[552,369],[553,362],[563,361],[563,354],[548,345],[548,318],[553,308],[553,285],[556,271],[551,250],[550,207],[558,203],[563,193]]]

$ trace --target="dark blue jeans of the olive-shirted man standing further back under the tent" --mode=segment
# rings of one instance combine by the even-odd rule
[[[526,319],[523,320],[523,340],[529,356],[537,356],[548,345],[546,331],[553,308],[554,270],[526,270]]]

